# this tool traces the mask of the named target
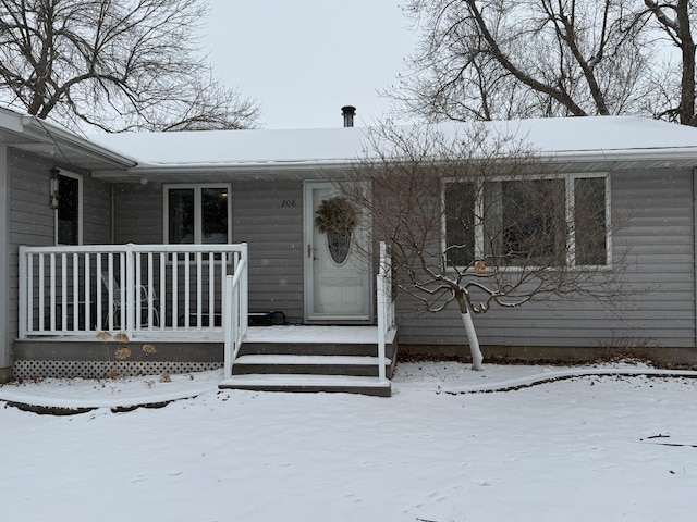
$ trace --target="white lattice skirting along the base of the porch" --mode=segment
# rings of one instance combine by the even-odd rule
[[[14,362],[16,380],[34,378],[106,378],[129,375],[162,375],[206,372],[222,368],[220,362],[169,361],[32,361]]]

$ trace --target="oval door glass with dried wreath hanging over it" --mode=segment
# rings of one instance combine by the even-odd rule
[[[315,212],[315,226],[327,235],[329,253],[337,264],[343,263],[351,249],[351,235],[358,223],[356,209],[346,198],[325,199]]]

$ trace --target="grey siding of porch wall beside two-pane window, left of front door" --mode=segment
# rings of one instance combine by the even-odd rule
[[[249,249],[249,310],[279,310],[289,322],[303,320],[302,206],[302,182],[232,183],[232,243]],[[162,185],[117,186],[115,221],[117,244],[161,244]]]

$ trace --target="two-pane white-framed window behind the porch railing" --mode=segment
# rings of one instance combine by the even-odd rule
[[[229,195],[229,185],[166,185],[166,243],[230,243]]]

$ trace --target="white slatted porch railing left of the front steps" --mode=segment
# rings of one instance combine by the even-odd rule
[[[225,277],[246,273],[246,256],[245,244],[20,247],[19,336],[220,332]]]

